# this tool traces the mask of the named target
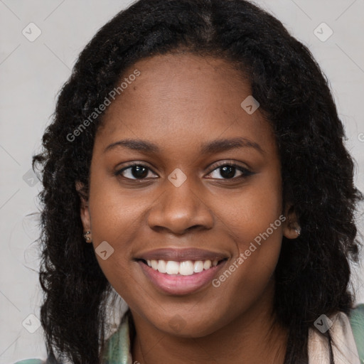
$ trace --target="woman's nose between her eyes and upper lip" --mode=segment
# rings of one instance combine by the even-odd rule
[[[213,228],[213,214],[203,195],[193,187],[191,178],[178,187],[168,180],[164,185],[164,193],[149,211],[148,224],[152,230],[183,235],[191,230]]]

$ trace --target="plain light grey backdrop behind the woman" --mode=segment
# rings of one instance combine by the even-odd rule
[[[357,162],[355,182],[364,191],[364,1],[256,3],[309,46],[326,73],[346,127],[348,149]],[[39,151],[56,95],[77,55],[128,4],[131,1],[0,0],[0,363],[45,358],[43,331],[37,327],[39,260],[32,244],[38,220],[29,215],[38,212],[41,183],[30,171],[31,156]],[[41,34],[33,40],[37,32]],[[363,207],[358,214],[361,232],[362,214]],[[355,268],[353,285],[356,301],[364,302],[360,269]]]

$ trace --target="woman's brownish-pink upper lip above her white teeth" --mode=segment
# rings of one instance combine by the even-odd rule
[[[136,259],[144,260],[173,260],[174,262],[183,262],[184,260],[222,260],[228,258],[227,255],[220,252],[211,252],[194,247],[189,248],[160,248],[149,250],[148,252],[137,255]]]

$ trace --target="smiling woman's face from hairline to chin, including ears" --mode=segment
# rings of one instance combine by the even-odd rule
[[[134,316],[205,336],[272,305],[282,235],[293,237],[277,146],[226,61],[159,55],[124,77],[134,70],[95,138],[82,223]]]

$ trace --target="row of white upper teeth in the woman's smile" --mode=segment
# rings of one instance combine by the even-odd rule
[[[203,272],[211,267],[218,265],[218,260],[215,259],[211,262],[208,260],[185,260],[183,262],[174,262],[173,260],[147,260],[146,264],[154,270],[166,274],[181,274],[182,276],[191,276],[194,273]]]

